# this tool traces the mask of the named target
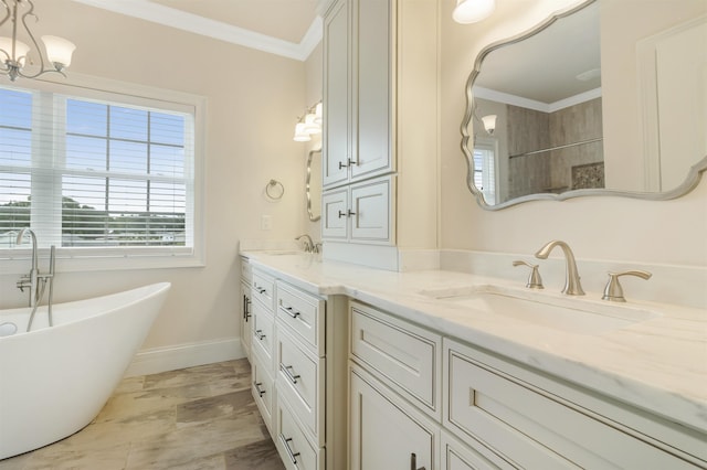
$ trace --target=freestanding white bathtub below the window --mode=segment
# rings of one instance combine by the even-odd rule
[[[101,412],[157,317],[169,282],[46,307],[0,310],[0,459],[63,439]],[[12,324],[18,331],[8,335]]]

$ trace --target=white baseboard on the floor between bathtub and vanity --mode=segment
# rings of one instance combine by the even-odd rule
[[[158,374],[160,372],[242,357],[245,357],[245,351],[241,345],[240,338],[154,348],[139,351],[135,355],[125,372],[125,377]]]

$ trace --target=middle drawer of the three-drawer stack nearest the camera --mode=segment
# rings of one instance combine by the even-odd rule
[[[314,441],[323,446],[324,413],[324,359],[312,352],[286,332],[278,330],[276,339],[278,399],[285,398],[295,416],[305,426]]]

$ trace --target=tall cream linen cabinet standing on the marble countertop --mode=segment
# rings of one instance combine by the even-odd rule
[[[327,259],[399,269],[436,248],[436,0],[324,8],[321,238]]]

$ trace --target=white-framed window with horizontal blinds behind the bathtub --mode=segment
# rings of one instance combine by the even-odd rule
[[[0,86],[0,255],[28,226],[65,257],[198,255],[199,100],[36,83]]]

